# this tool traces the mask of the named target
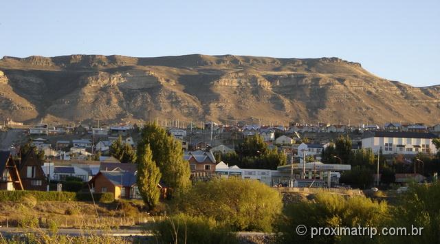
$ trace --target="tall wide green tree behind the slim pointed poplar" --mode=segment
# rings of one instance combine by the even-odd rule
[[[144,154],[145,145],[149,145],[152,159],[162,173],[162,181],[170,188],[187,188],[190,186],[190,166],[184,160],[181,142],[168,135],[165,129],[155,123],[145,124],[137,151]]]

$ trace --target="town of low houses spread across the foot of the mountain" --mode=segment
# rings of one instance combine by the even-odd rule
[[[166,128],[169,135],[181,142],[192,181],[240,177],[256,179],[271,187],[366,188],[382,184],[406,186],[411,181],[437,179],[437,168],[424,162],[423,157],[437,154],[439,145],[434,142],[438,140],[440,124],[426,126],[389,122],[383,126],[353,126],[292,122],[288,126],[225,125],[212,121],[164,122],[159,118],[155,123]],[[135,185],[135,162],[113,157],[111,146],[121,140],[122,144],[135,151],[142,124],[109,125],[97,121],[95,126],[63,126],[43,122],[28,125],[6,119],[1,129],[1,190],[63,190],[63,183],[69,185],[66,179],[76,177],[88,183],[91,192],[111,192],[115,199],[141,199]],[[283,155],[284,159],[270,165],[246,165],[231,157],[236,155],[236,148],[247,137],[255,136],[261,137],[269,150]],[[382,157],[376,159],[377,170],[373,162],[371,180],[366,184],[350,184],[351,181],[347,179],[340,180],[344,178],[344,171],[350,171],[354,166],[351,164],[355,164],[353,159],[338,155],[334,150],[333,145],[340,136],[347,136],[351,140],[350,150],[354,155],[356,151],[368,150],[373,157]],[[37,150],[28,150],[30,155],[19,155],[23,152],[23,146],[32,146]],[[335,152],[329,155],[329,149]],[[14,160],[17,158],[19,162]],[[17,171],[9,168],[10,164]],[[391,182],[382,177],[383,171],[390,174],[390,168]],[[81,190],[81,187],[76,190]]]

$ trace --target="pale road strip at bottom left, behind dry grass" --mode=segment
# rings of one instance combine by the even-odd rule
[[[39,228],[37,230],[26,228],[0,228],[0,234],[3,236],[12,236],[22,234],[26,232],[46,232],[49,233],[49,229]],[[90,235],[102,235],[102,236],[151,236],[152,234],[142,233],[140,229],[120,229],[120,230],[80,230],[80,229],[58,229],[58,234],[69,236],[90,236]]]

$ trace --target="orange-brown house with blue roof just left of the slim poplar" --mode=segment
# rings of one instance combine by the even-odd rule
[[[142,199],[136,175],[131,172],[100,171],[90,179],[89,186],[96,193],[112,192],[115,199]]]

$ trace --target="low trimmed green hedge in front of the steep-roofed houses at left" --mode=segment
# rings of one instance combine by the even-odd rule
[[[32,196],[37,201],[92,201],[90,193],[76,192],[43,192],[37,190],[0,190],[1,201],[21,201],[23,197]],[[96,202],[110,202],[115,199],[113,193],[94,193]]]

